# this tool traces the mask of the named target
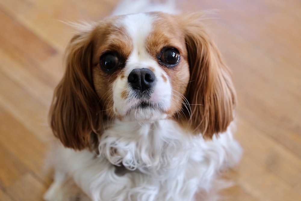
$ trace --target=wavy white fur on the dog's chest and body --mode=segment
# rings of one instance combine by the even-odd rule
[[[55,149],[53,164],[61,177],[54,183],[71,177],[93,201],[194,200],[197,191],[209,191],[219,171],[239,161],[241,148],[230,128],[212,141],[185,132],[170,120],[143,126],[115,121],[105,128],[98,157]],[[131,172],[116,175],[112,164],[120,162]]]

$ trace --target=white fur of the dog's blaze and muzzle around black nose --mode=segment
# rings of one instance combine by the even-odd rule
[[[113,83],[113,102],[114,111],[117,115],[125,116],[126,120],[152,120],[152,119],[164,119],[166,117],[162,110],[168,110],[171,103],[172,86],[169,82],[168,76],[165,71],[159,66],[158,62],[152,58],[147,49],[145,48],[145,42],[147,37],[152,31],[152,24],[154,17],[148,14],[130,14],[127,15],[119,25],[126,28],[127,34],[130,36],[133,44],[133,51],[126,61],[124,67],[125,78],[119,76]],[[145,108],[143,110],[133,109],[137,104],[141,102],[140,99],[135,97],[134,91],[128,85],[127,77],[132,70],[138,68],[154,68],[154,75],[156,76],[156,85],[154,92],[151,94],[151,101],[154,105],[158,105],[157,110]],[[163,81],[162,75],[167,79]],[[121,93],[127,91],[129,96],[124,99],[121,97]]]

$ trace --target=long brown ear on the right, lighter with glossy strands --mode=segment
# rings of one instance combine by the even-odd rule
[[[191,107],[186,117],[195,133],[211,138],[225,131],[233,120],[236,94],[230,71],[204,30],[201,17],[193,14],[184,25],[190,66],[186,98]]]

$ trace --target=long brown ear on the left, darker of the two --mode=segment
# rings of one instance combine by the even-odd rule
[[[71,39],[66,49],[66,71],[54,91],[50,125],[64,146],[81,150],[101,123],[98,97],[92,83],[92,31]]]

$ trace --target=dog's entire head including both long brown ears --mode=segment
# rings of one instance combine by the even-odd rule
[[[84,149],[103,121],[173,119],[211,138],[233,120],[228,68],[201,14],[131,14],[83,26],[66,50],[51,106],[64,146]]]

